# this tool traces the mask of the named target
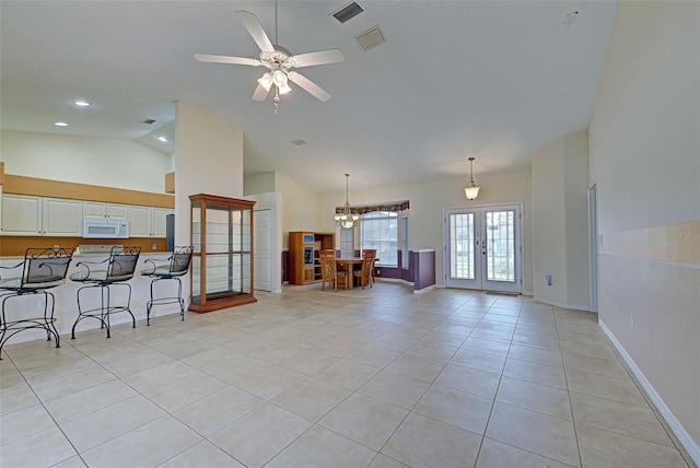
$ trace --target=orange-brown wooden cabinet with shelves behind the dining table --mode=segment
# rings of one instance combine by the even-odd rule
[[[308,284],[320,281],[318,250],[335,247],[334,233],[289,233],[289,282]]]

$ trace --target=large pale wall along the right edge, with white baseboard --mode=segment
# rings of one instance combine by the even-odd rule
[[[588,130],[599,319],[698,464],[699,35],[699,2],[618,2]]]

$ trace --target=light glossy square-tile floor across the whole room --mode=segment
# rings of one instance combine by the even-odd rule
[[[693,466],[593,314],[388,282],[257,296],[8,344],[0,465]]]

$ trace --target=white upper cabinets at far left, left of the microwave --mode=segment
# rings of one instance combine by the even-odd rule
[[[2,197],[3,235],[82,235],[81,200],[5,194]]]

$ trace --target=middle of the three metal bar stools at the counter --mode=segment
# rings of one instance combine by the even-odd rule
[[[136,328],[136,317],[129,308],[131,302],[131,285],[127,283],[133,278],[136,264],[139,261],[141,247],[138,246],[114,246],[109,250],[109,258],[102,261],[79,261],[75,267],[84,267],[84,271],[80,271],[70,276],[71,281],[84,283],[77,293],[78,297],[78,318],[73,324],[71,338],[75,339],[75,326],[83,318],[92,317],[101,321],[100,328],[107,329],[107,338],[109,335],[109,316],[119,312],[128,312],[131,316],[132,328]],[[96,269],[97,265],[105,265],[105,269]],[[97,267],[98,268],[98,267]],[[112,305],[109,294],[110,289],[116,286],[126,286],[128,296],[126,305]],[[90,289],[100,289],[100,307],[83,309],[80,303],[81,292]]]

